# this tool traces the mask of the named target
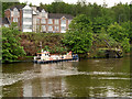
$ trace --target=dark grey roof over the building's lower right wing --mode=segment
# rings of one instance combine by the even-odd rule
[[[63,13],[48,13],[50,19],[61,19],[65,16],[66,19],[73,19],[74,16],[70,14],[63,14]]]

